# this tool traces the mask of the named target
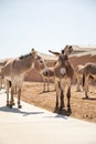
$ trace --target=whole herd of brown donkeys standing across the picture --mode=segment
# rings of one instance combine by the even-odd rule
[[[73,47],[65,45],[61,52],[55,52],[49,50],[49,52],[55,54],[57,60],[54,66],[49,68],[42,55],[34,49],[31,50],[29,54],[22,55],[17,59],[7,59],[0,61],[0,82],[2,88],[2,82],[4,83],[4,89],[7,92],[7,106],[12,107],[14,104],[13,94],[17,91],[18,94],[18,107],[21,107],[21,88],[24,81],[26,72],[32,69],[36,69],[43,78],[45,91],[45,80],[47,79],[47,91],[49,91],[49,80],[54,79],[54,86],[56,92],[55,109],[62,110],[64,107],[64,91],[66,91],[67,97],[67,113],[71,113],[71,85],[73,78],[75,75],[77,81],[77,91],[81,91],[81,81],[83,81],[82,86],[85,91],[85,97],[88,99],[88,84],[92,79],[96,79],[96,63],[88,62],[85,65],[77,65],[73,68],[68,55],[72,53]],[[11,89],[10,89],[11,88]],[[9,96],[9,90],[10,96]],[[9,99],[10,97],[10,99]]]

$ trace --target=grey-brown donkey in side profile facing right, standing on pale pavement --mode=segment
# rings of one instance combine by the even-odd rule
[[[20,97],[24,76],[26,72],[29,72],[31,69],[40,70],[42,65],[44,66],[44,61],[34,49],[32,49],[31,53],[22,55],[19,59],[14,59],[4,65],[3,75],[7,81],[7,106],[12,107],[13,105],[13,94],[14,94],[14,88],[17,85],[18,107],[21,109]],[[9,103],[9,82],[11,82],[10,103]]]

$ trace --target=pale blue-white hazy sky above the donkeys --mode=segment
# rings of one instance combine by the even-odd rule
[[[96,45],[96,0],[0,0],[0,59]]]

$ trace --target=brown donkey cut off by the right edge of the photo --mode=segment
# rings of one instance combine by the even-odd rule
[[[84,66],[83,85],[85,90],[85,97],[88,99],[88,83],[89,78],[96,79],[96,63],[88,62]]]

